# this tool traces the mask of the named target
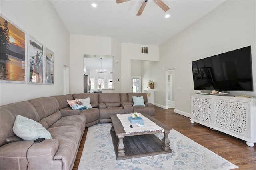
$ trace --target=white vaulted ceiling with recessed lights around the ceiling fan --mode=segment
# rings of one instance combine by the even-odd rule
[[[202,18],[224,0],[162,0],[166,12],[148,0],[141,16],[136,16],[142,0],[117,4],[115,0],[52,0],[70,34],[102,36],[123,43],[161,45]],[[97,7],[91,4],[96,3]],[[169,18],[165,18],[170,14]]]

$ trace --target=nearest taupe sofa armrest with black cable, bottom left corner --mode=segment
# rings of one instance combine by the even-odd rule
[[[56,139],[46,139],[40,143],[22,140],[5,144],[0,148],[1,169],[26,169],[27,166],[27,169],[61,169],[62,164],[53,160],[58,147]]]

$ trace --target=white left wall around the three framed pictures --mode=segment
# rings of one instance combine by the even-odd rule
[[[0,83],[0,105],[63,94],[69,33],[50,1],[0,1],[1,14],[54,52],[54,85]],[[62,87],[62,90],[60,88]]]

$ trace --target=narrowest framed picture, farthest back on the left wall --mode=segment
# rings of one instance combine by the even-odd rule
[[[45,48],[45,84],[54,84],[54,53]]]

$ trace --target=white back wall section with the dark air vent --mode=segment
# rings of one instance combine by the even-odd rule
[[[148,54],[141,53],[141,47],[148,47]],[[159,61],[159,47],[154,45],[142,45],[122,43],[122,63],[121,63],[121,76],[122,76],[122,93],[130,92],[131,90],[131,59],[143,61]],[[148,67],[147,69],[150,69]],[[144,83],[142,83],[142,87]],[[142,88],[143,91],[143,88]]]

